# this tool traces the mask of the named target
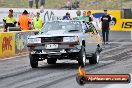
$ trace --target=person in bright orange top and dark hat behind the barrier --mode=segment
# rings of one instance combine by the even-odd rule
[[[19,17],[18,25],[22,30],[30,30],[31,29],[31,19],[28,17],[27,10],[24,10],[22,16]]]

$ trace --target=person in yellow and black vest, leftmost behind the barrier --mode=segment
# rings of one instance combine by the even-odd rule
[[[15,27],[16,26],[16,18],[13,16],[13,10],[9,10],[9,15],[4,17],[4,32],[7,32],[8,27]]]

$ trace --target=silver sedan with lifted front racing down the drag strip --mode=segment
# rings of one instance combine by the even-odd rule
[[[90,64],[99,63],[102,38],[91,22],[50,21],[37,35],[28,38],[27,47],[32,68],[45,59],[48,64],[63,59],[77,60],[84,67],[87,59]]]

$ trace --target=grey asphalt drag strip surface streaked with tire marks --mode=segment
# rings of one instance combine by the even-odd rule
[[[87,65],[88,74],[131,74],[132,42],[130,32],[111,32],[110,43],[103,46],[100,63]],[[59,60],[56,65],[39,62],[32,69],[28,56],[0,60],[0,88],[132,88],[130,84],[86,84],[76,82],[77,61]],[[116,87],[115,87],[116,86]],[[120,86],[120,87],[119,87]]]

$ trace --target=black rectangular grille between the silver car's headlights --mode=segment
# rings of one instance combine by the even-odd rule
[[[63,41],[63,37],[45,37],[41,39],[42,43],[46,43],[46,42],[62,42]]]

